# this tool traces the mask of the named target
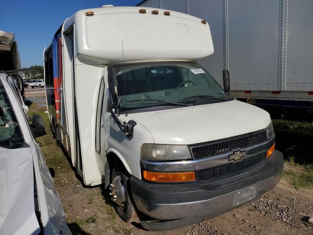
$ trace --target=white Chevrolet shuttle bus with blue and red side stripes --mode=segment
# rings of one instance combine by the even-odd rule
[[[136,211],[147,230],[175,229],[279,182],[268,113],[228,98],[227,71],[223,90],[195,62],[213,51],[202,19],[112,6],[76,12],[45,48],[56,140],[86,185],[104,184],[124,221]]]

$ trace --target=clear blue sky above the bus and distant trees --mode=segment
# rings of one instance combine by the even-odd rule
[[[0,30],[15,33],[22,68],[43,65],[43,50],[64,20],[76,11],[101,7],[134,6],[141,0],[9,0],[2,5]]]

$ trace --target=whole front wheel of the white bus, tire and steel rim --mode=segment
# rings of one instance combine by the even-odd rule
[[[129,177],[118,167],[113,167],[109,195],[115,204],[116,212],[125,222],[129,222],[131,219],[134,220],[136,215],[130,197],[129,183]]]

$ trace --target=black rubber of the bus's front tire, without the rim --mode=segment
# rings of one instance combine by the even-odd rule
[[[115,210],[123,221],[125,221],[125,222],[129,222],[131,220],[135,221],[136,220],[135,219],[136,213],[135,213],[133,201],[130,197],[131,190],[130,190],[129,176],[126,175],[124,173],[124,171],[120,170],[119,167],[115,166],[115,167],[113,167],[112,173],[111,173],[111,183],[112,183],[113,179],[116,177],[116,175],[120,175],[122,180],[123,180],[122,184],[125,186],[125,190],[126,190],[126,202],[125,202],[126,205],[125,205],[125,207],[120,207],[115,202],[113,202],[114,206],[115,206]]]

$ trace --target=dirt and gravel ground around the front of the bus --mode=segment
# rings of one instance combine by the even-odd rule
[[[42,115],[47,131],[47,135],[37,141],[44,152],[46,164],[54,169],[53,180],[68,226],[75,235],[313,234],[313,224],[306,220],[307,216],[313,215],[313,187],[310,184],[304,188],[294,187],[294,177],[308,172],[304,166],[289,162],[285,163],[287,173],[273,190],[213,219],[168,232],[148,232],[137,223],[125,223],[115,212],[109,198],[103,196],[100,187],[86,187],[75,175],[64,152],[52,137],[46,107],[36,102],[34,100],[30,104],[30,115],[34,112]]]

